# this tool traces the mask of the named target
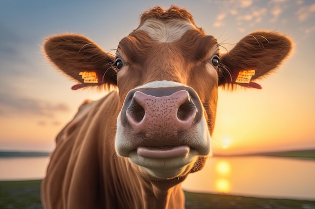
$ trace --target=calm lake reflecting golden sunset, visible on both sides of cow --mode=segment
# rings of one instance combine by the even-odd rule
[[[48,157],[0,158],[0,180],[42,179]],[[214,157],[189,174],[193,192],[315,200],[315,160],[282,157]]]

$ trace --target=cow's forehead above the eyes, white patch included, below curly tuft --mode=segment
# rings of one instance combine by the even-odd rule
[[[170,55],[194,60],[206,56],[213,47],[217,48],[216,39],[207,36],[189,19],[147,18],[120,41],[116,54],[140,62],[152,62],[161,56],[166,59]]]

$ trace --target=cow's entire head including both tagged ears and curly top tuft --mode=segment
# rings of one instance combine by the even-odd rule
[[[222,54],[217,40],[177,7],[145,12],[116,56],[79,35],[45,43],[50,60],[79,82],[72,89],[117,87],[116,152],[160,179],[185,178],[204,165],[218,86],[261,88],[253,80],[275,69],[290,50],[287,37],[258,31]]]

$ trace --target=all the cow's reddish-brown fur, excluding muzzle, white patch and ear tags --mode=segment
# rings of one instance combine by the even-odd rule
[[[192,16],[172,6],[159,7],[142,14],[140,25],[148,19],[185,20]],[[215,124],[217,88],[235,85],[242,70],[255,69],[252,80],[277,68],[291,50],[289,38],[272,32],[254,32],[226,54],[220,55],[215,72],[211,65],[218,44],[201,29],[187,31],[174,42],[157,42],[145,31],[133,31],[121,40],[117,57],[124,70],[114,68],[114,56],[103,52],[91,40],[80,35],[48,38],[44,50],[50,61],[77,81],[73,89],[111,86],[103,99],[83,104],[73,120],[58,134],[47,175],[42,184],[42,202],[50,208],[184,208],[181,182],[189,172],[200,170],[206,156],[198,156],[187,173],[159,179],[148,175],[114,149],[116,119],[126,94],[151,81],[174,81],[194,89],[203,105],[207,127],[212,134]],[[209,53],[212,52],[210,55]],[[80,72],[96,72],[98,84],[83,83]],[[239,84],[259,88],[258,84]]]

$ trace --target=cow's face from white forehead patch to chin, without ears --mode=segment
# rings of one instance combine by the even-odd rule
[[[203,164],[217,103],[216,40],[189,20],[148,19],[120,42],[115,61],[124,101],[117,153],[159,178]]]

